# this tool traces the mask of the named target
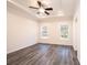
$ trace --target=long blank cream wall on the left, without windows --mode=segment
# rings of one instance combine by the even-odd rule
[[[11,10],[7,12],[7,53],[37,43],[37,22],[20,15],[18,10],[17,12]]]

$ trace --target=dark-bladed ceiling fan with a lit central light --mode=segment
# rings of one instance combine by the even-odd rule
[[[36,7],[29,7],[29,8],[37,9],[39,10],[37,14],[40,14],[41,12],[44,12],[45,14],[50,15],[48,11],[52,11],[53,8],[45,8],[41,1],[37,1],[37,4],[39,4],[39,8],[36,8]]]

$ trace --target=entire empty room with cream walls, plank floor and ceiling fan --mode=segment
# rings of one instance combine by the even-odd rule
[[[80,65],[79,0],[7,0],[7,65]]]

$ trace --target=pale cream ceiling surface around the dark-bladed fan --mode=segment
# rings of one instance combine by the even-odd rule
[[[40,0],[42,2],[45,1],[45,3],[44,2],[43,3],[46,7],[52,7],[53,11],[50,11],[50,15],[46,15],[44,13],[37,15],[36,14],[37,10],[29,8],[30,6],[39,7],[36,3],[37,0],[13,0],[13,1],[26,8],[32,14],[39,18],[57,17],[57,11],[59,11],[61,9],[64,12],[65,18],[73,18],[78,2],[78,0]]]

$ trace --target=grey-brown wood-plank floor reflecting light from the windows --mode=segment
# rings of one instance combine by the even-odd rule
[[[8,54],[7,65],[79,65],[72,46],[35,44]]]

